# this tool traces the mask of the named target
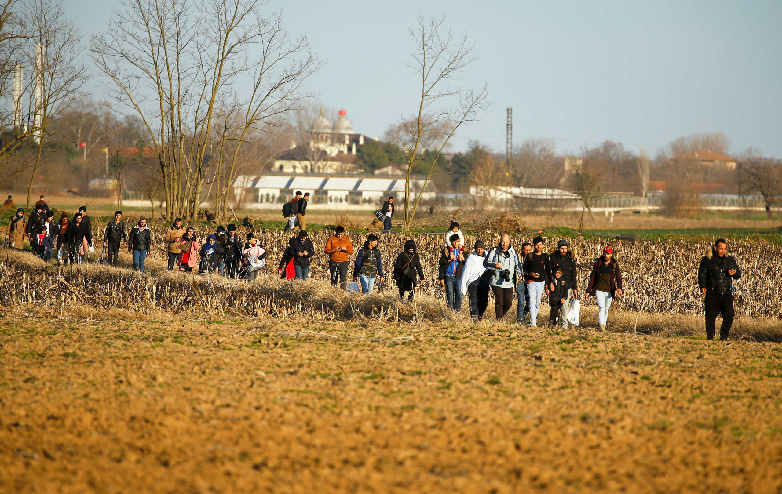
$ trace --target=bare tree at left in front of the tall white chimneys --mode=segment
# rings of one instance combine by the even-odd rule
[[[24,23],[30,34],[28,65],[34,67],[34,91],[30,94],[30,123],[38,150],[27,186],[27,207],[33,193],[35,175],[41,165],[50,124],[81,96],[87,80],[87,66],[81,61],[81,32],[66,16],[58,0],[30,0],[24,4]]]

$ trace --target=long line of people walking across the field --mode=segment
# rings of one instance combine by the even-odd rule
[[[289,240],[278,265],[278,272],[285,279],[310,277],[310,265],[315,256],[315,247],[307,234],[304,215],[307,210],[308,194],[292,201],[296,212],[292,213],[296,221],[290,221],[286,230],[298,233]],[[9,198],[10,200],[10,198]],[[390,218],[393,215],[393,197],[384,204],[382,213],[384,229],[390,230]],[[62,213],[55,221],[54,212],[43,200],[34,206],[30,217],[24,216],[24,209],[16,209],[9,218],[6,228],[6,246],[23,249],[23,242],[30,243],[35,255],[46,262],[56,255],[58,263],[81,263],[84,256],[95,252],[91,218],[87,207],[81,206],[73,217]],[[465,295],[468,296],[470,316],[481,320],[489,305],[489,293],[494,296],[494,315],[503,319],[516,300],[516,319],[519,323],[537,326],[540,302],[543,295],[549,297],[551,311],[549,324],[559,324],[569,328],[569,313],[572,304],[579,299],[578,267],[572,256],[569,242],[561,239],[552,252],[544,252],[543,238],[539,235],[533,242],[524,242],[520,251],[511,245],[511,237],[503,234],[500,242],[491,248],[477,240],[472,250],[466,249],[465,236],[457,222],[450,224],[439,252],[438,281],[446,293],[448,306],[461,311]],[[243,277],[255,279],[258,272],[266,266],[267,252],[259,239],[252,233],[246,234],[244,242],[239,238],[234,224],[217,227],[213,234],[199,240],[192,227],[184,227],[180,218],[174,220],[163,235],[168,256],[168,269],[191,273],[197,269],[200,273],[217,273],[225,277]],[[336,227],[328,238],[323,252],[328,255],[328,270],[331,284],[349,289],[348,273],[350,257],[355,254],[352,270],[352,283],[361,284],[361,292],[371,294],[375,283],[386,281],[382,252],[378,249],[379,238],[369,234],[360,249],[353,244],[344,227]],[[143,271],[145,259],[152,249],[152,233],[147,219],[140,217],[127,231],[122,212],[116,211],[113,220],[109,220],[102,232],[103,251],[106,263],[117,266],[122,244],[132,254],[133,269]],[[716,317],[722,315],[720,339],[728,338],[734,318],[733,280],[741,277],[736,260],[726,255],[727,243],[720,238],[715,242],[707,256],[701,260],[698,268],[698,287],[705,297],[707,338],[716,336]],[[413,300],[418,281],[425,278],[421,267],[421,258],[413,240],[407,240],[402,252],[396,256],[391,269],[391,277],[396,282],[400,299],[408,293],[407,299]],[[355,288],[354,288],[355,289]],[[622,295],[622,271],[615,259],[613,249],[607,245],[601,256],[591,265],[589,282],[585,290],[587,299],[594,296],[597,303],[597,319],[601,329],[608,322],[608,311],[615,297]]]

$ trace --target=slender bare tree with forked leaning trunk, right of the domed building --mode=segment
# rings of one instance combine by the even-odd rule
[[[490,105],[486,85],[479,90],[451,88],[451,82],[457,82],[459,74],[475,60],[472,45],[468,45],[466,36],[459,38],[443,27],[444,17],[426,20],[418,16],[418,23],[409,30],[415,49],[411,53],[412,61],[408,67],[418,77],[417,109],[414,116],[401,120],[407,136],[402,149],[407,159],[407,174],[404,178],[404,211],[402,225],[409,231],[418,202],[424,194],[426,185],[432,177],[437,159],[446,149],[450,138],[459,127],[474,121],[478,113]],[[439,136],[439,138],[434,138]],[[436,152],[424,158],[424,144],[432,138],[432,147]],[[418,165],[428,170],[411,201],[411,171]]]

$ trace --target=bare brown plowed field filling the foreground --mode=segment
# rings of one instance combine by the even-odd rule
[[[782,489],[776,343],[0,315],[0,492]]]

